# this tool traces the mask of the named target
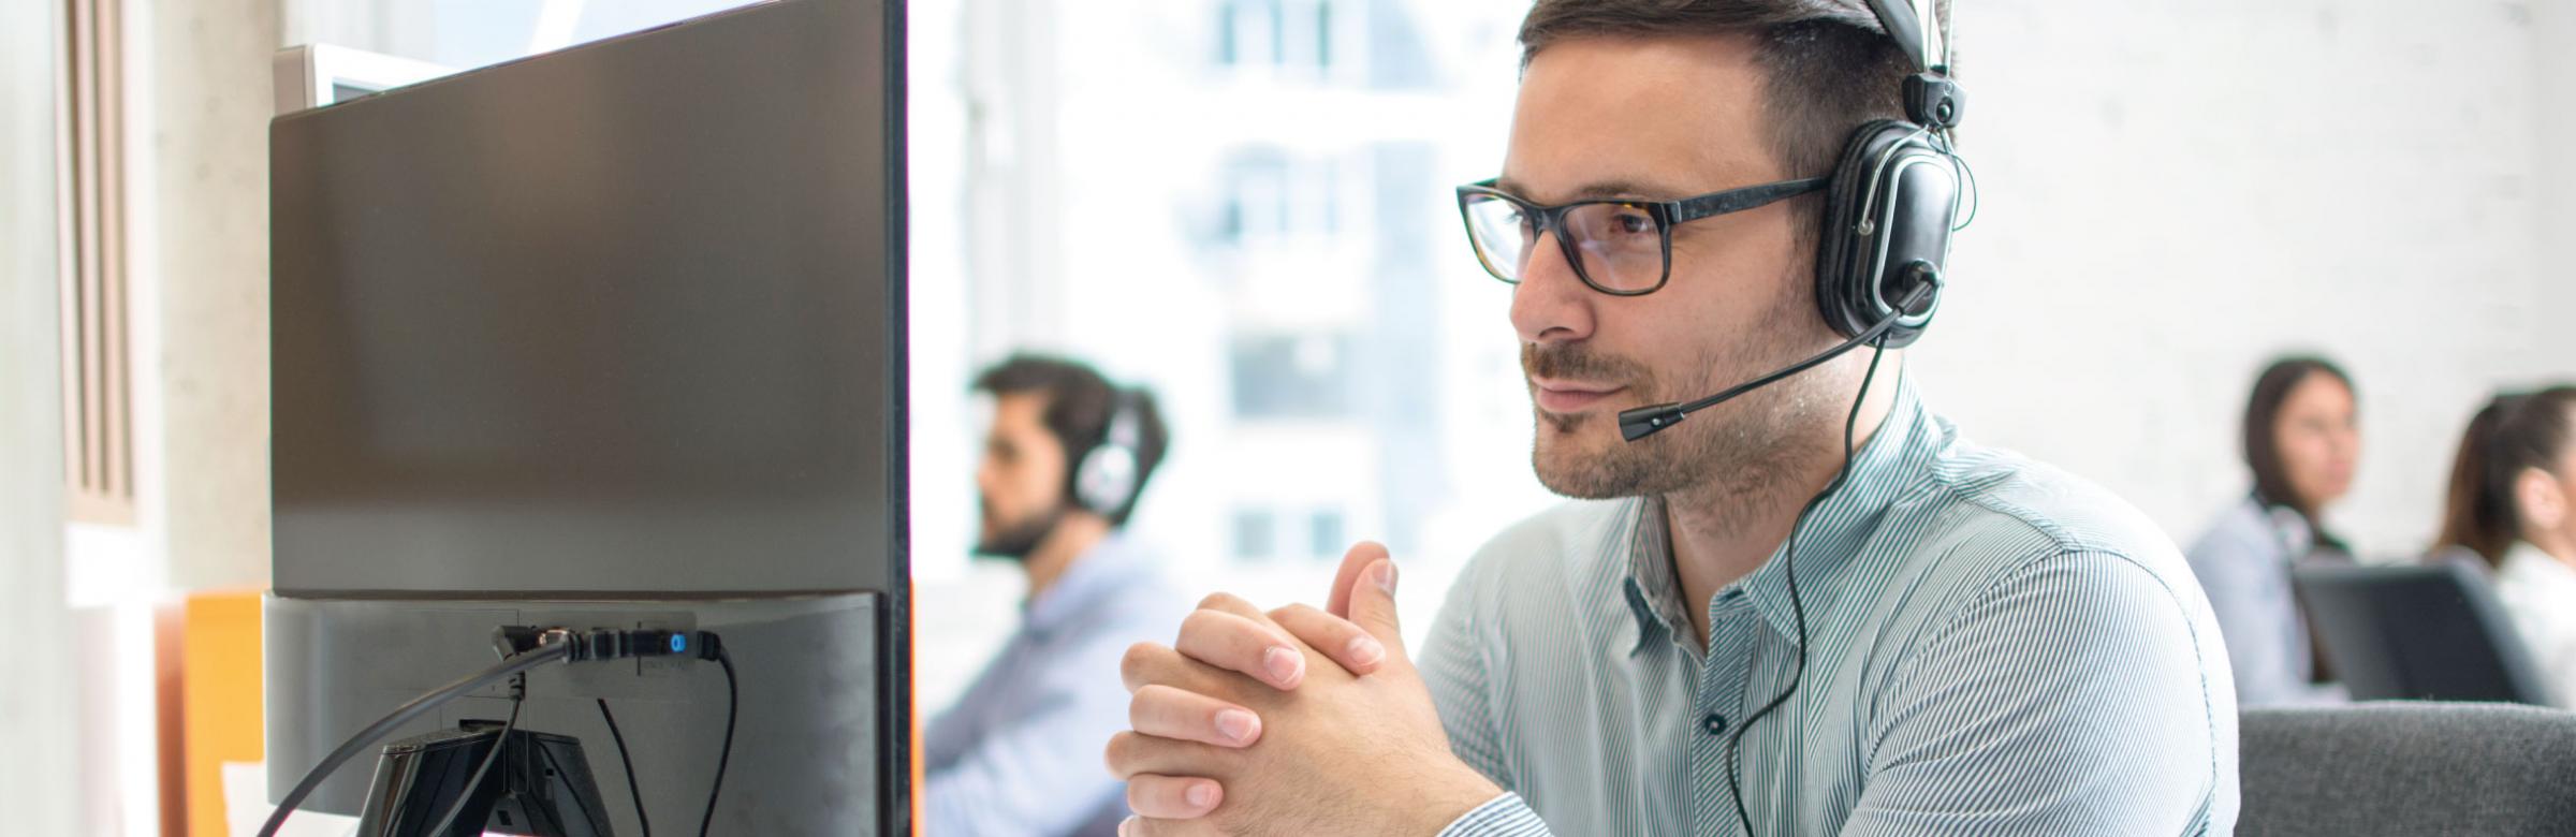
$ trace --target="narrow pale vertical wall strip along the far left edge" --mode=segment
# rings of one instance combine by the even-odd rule
[[[0,3],[0,811],[85,834],[62,579],[62,355],[54,306],[54,3]]]

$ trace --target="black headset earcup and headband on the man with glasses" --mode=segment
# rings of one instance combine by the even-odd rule
[[[1935,0],[1870,0],[1870,10],[1914,62],[1906,118],[1870,121],[1842,147],[1816,250],[1816,309],[1844,337],[1893,319],[1878,345],[1904,348],[1932,324],[1950,232],[1973,191],[1950,147],[1968,100],[1950,80]]]

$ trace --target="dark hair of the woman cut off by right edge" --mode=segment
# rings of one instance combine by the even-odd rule
[[[2524,469],[2553,471],[2568,443],[2576,443],[2576,386],[2488,399],[2468,420],[2460,456],[2450,464],[2439,546],[2465,546],[2488,564],[2504,564],[2504,551],[2522,536],[2514,479]]]

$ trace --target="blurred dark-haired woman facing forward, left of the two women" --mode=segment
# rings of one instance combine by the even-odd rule
[[[2362,433],[2352,379],[2321,358],[2272,361],[2246,399],[2244,456],[2254,492],[2187,551],[2218,610],[2239,706],[2334,703],[2290,567],[2352,561],[2324,510],[2352,489]]]

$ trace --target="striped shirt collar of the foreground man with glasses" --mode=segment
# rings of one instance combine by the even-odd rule
[[[1806,605],[1814,608],[1834,592],[1837,569],[1850,564],[1852,554],[1878,528],[1888,505],[1914,484],[1914,476],[1929,471],[1942,443],[1945,433],[1932,412],[1924,409],[1911,376],[1899,373],[1896,404],[1888,409],[1886,422],[1852,453],[1852,479],[1834,497],[1826,497],[1795,533],[1798,597]],[[1646,649],[1646,639],[1656,631],[1687,636],[1690,618],[1682,610],[1687,608],[1682,585],[1672,572],[1672,536],[1664,523],[1664,500],[1638,497],[1631,502],[1631,531],[1620,543],[1628,551],[1623,592],[1628,613],[1636,618],[1636,644],[1628,649],[1633,657]],[[1798,610],[1788,597],[1788,561],[1783,554],[1788,554],[1788,543],[1780,543],[1759,569],[1718,590],[1708,603],[1710,610],[1721,608],[1728,595],[1741,592],[1752,597],[1754,613],[1772,631],[1795,641]]]

